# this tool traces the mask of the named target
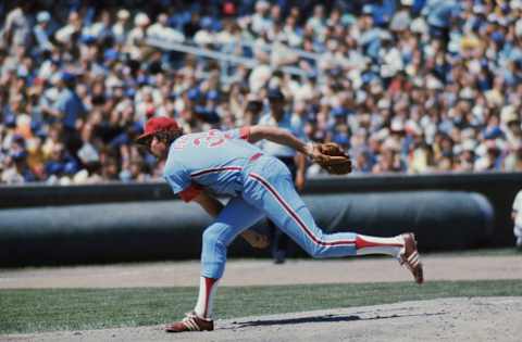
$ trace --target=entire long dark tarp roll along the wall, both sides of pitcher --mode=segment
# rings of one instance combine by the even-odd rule
[[[493,233],[492,205],[476,193],[315,194],[304,201],[326,231],[414,231],[424,251],[486,245]],[[197,204],[179,201],[1,210],[0,266],[198,258],[210,221]],[[264,227],[263,220],[256,229]],[[229,255],[269,252],[237,239]]]

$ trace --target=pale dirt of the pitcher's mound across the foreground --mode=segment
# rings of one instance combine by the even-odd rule
[[[519,341],[522,297],[443,299],[217,320],[211,332],[159,326],[0,337],[2,341]]]

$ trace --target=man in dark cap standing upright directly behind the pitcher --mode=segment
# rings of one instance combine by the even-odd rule
[[[299,117],[286,111],[286,99],[281,89],[269,89],[268,99],[270,112],[260,118],[259,125],[282,128],[306,141],[304,125]],[[287,145],[268,140],[261,141],[259,147],[264,153],[277,157],[288,167],[297,191],[301,192],[304,188],[306,156]],[[272,236],[272,257],[275,264],[283,264],[290,252],[291,241],[272,220],[269,219],[268,224]]]

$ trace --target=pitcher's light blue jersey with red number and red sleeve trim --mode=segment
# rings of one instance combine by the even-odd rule
[[[174,193],[191,201],[204,188],[215,194],[243,191],[243,168],[261,151],[248,142],[250,128],[188,134],[169,149],[163,178]]]

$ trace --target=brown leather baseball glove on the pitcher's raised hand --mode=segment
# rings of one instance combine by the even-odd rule
[[[350,157],[335,142],[314,144],[312,161],[332,175],[347,175],[351,173]]]

